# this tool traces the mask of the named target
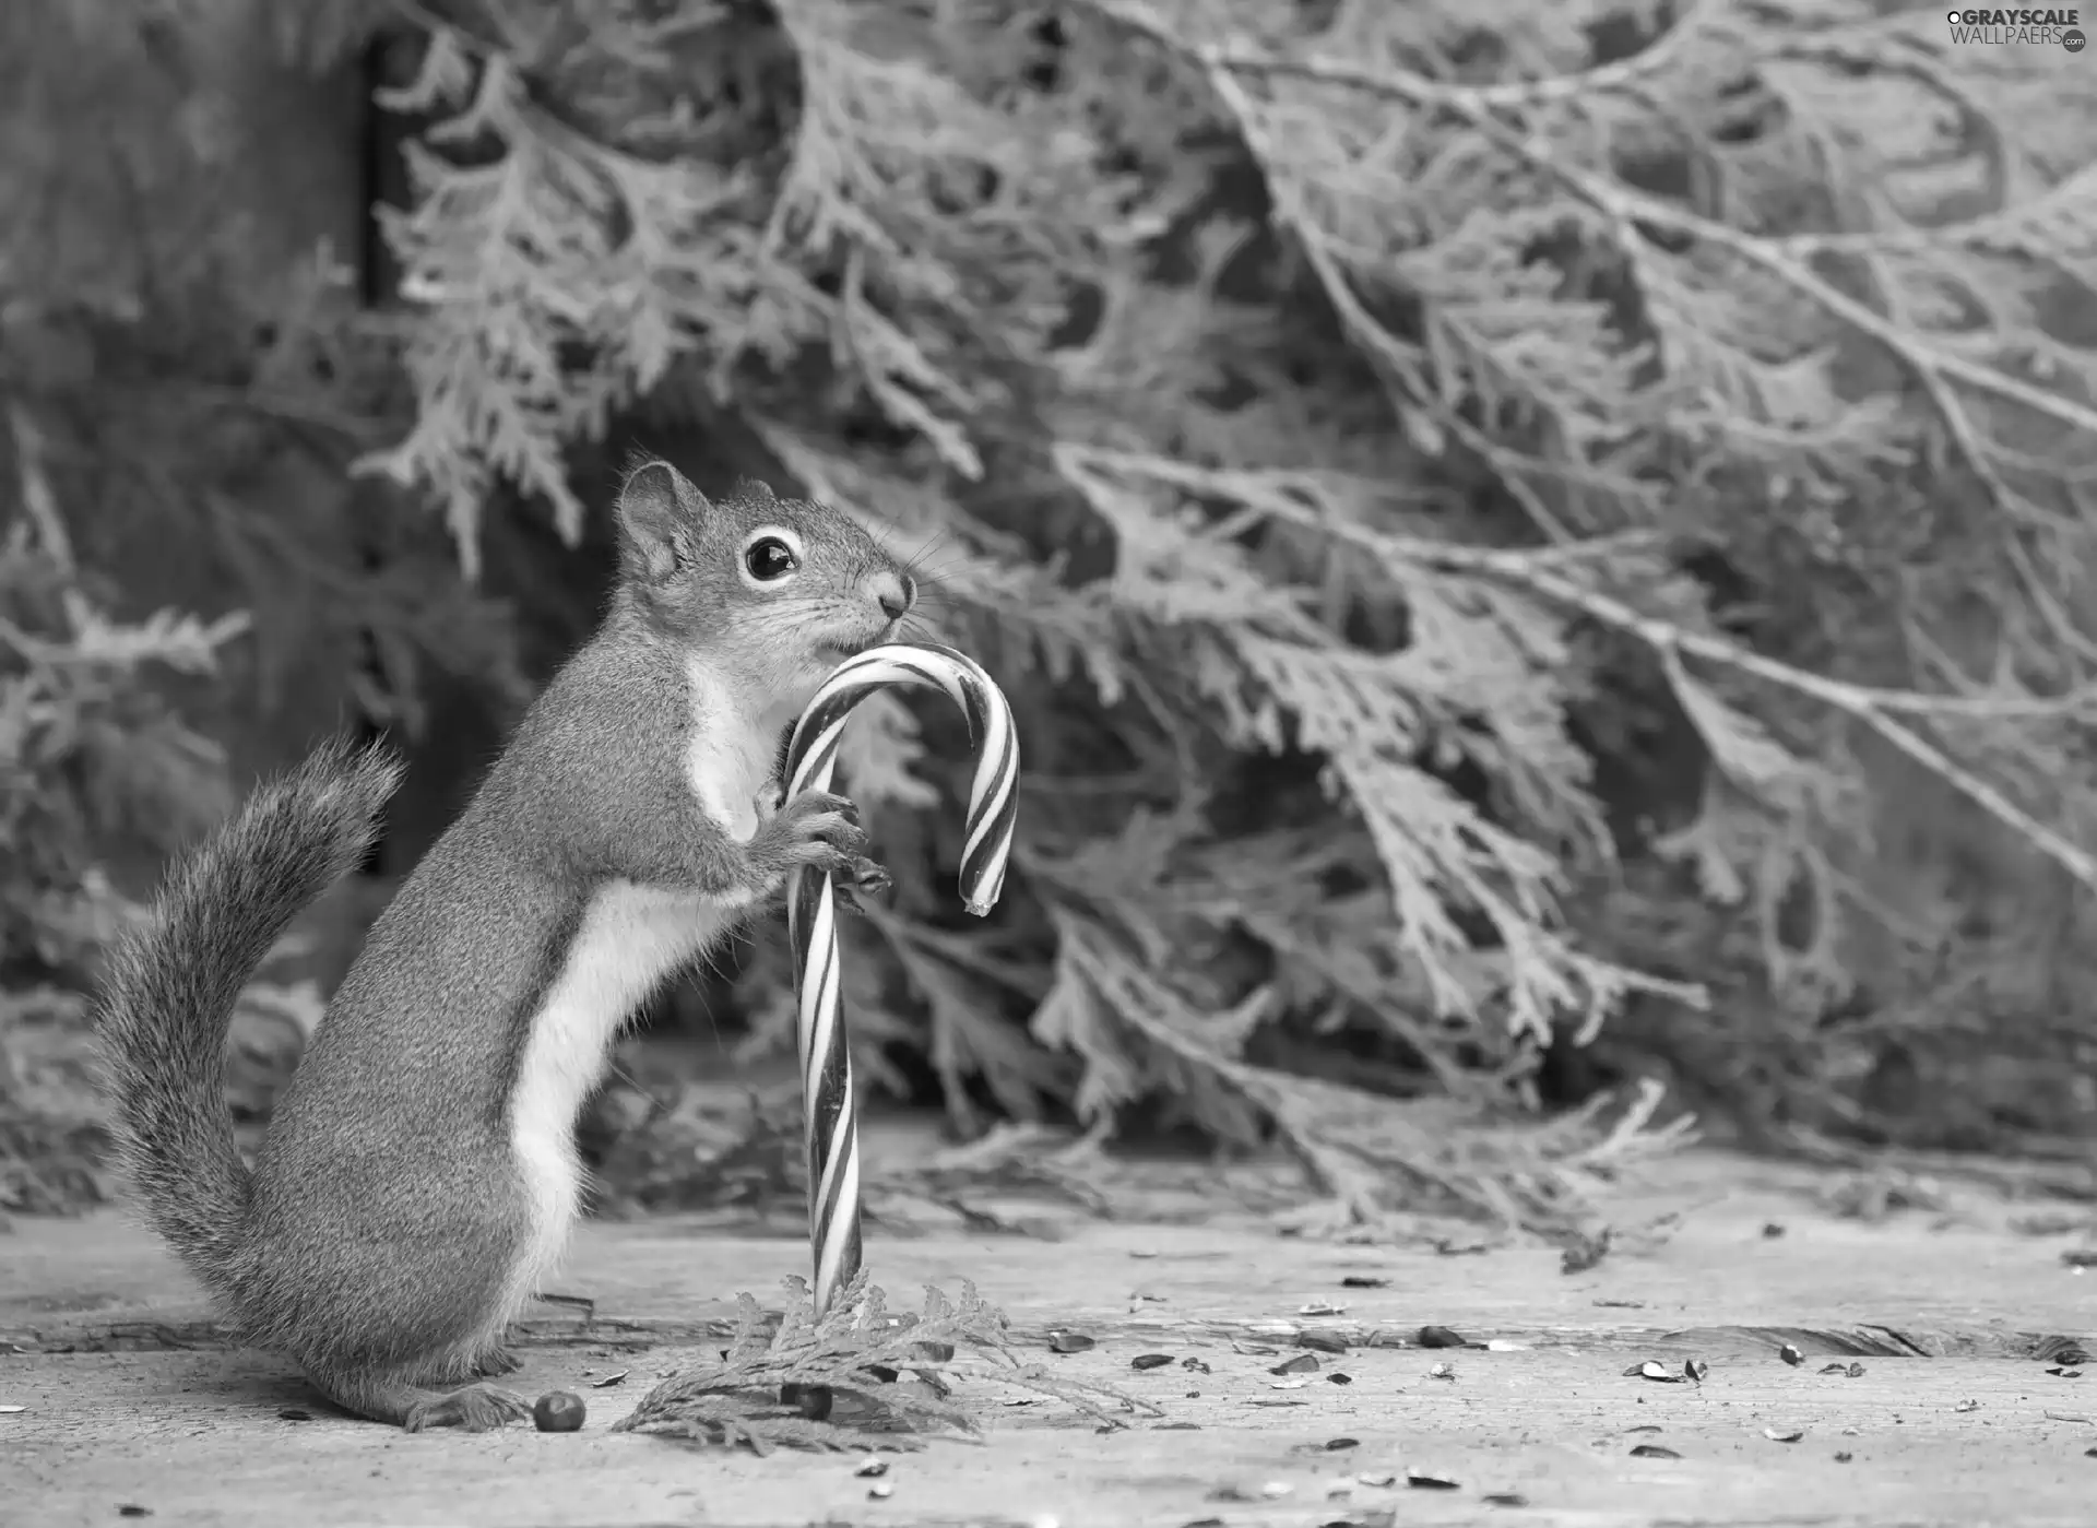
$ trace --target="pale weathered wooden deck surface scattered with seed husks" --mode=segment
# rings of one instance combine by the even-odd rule
[[[803,1264],[793,1239],[587,1226],[562,1287],[593,1297],[598,1320],[535,1318],[518,1377],[528,1394],[579,1390],[587,1427],[403,1436],[331,1415],[266,1354],[226,1350],[193,1285],[122,1218],[17,1220],[0,1235],[0,1406],[23,1411],[0,1415],[0,1522],[136,1518],[124,1507],[155,1528],[2097,1522],[2097,1365],[2076,1379],[2036,1356],[2049,1339],[2097,1346],[2097,1279],[2061,1258],[2087,1232],[2019,1235],[2017,1207],[1980,1201],[1864,1224],[1816,1207],[1810,1188],[1684,1157],[1638,1203],[1692,1207],[1684,1226],[1581,1274],[1548,1249],[1350,1247],[1246,1220],[1086,1224],[1063,1241],[872,1237],[898,1306],[921,1283],[969,1276],[1046,1360],[1164,1409],[1099,1434],[1053,1402],[994,1406],[981,1446],[895,1457],[883,1501],[856,1457],[606,1432],[738,1289],[776,1304],[776,1281]],[[1785,1232],[1766,1235],[1770,1222]],[[1350,1274],[1390,1283],[1342,1287]],[[1319,1304],[1344,1310],[1300,1314]],[[1501,1350],[1392,1346],[1422,1325]],[[1051,1327],[1097,1348],[1048,1356]],[[1306,1383],[1281,1388],[1269,1369],[1285,1352],[1241,1350],[1285,1350],[1296,1327],[1376,1346],[1317,1354]],[[1782,1341],[1801,1365],[1778,1356]],[[1130,1369],[1151,1352],[1208,1373]],[[1709,1362],[1703,1383],[1623,1373],[1692,1356]],[[1822,1373],[1837,1358],[1862,1373]],[[617,1371],[629,1371],[617,1388],[589,1388]],[[1407,1471],[1457,1486],[1409,1488]]]

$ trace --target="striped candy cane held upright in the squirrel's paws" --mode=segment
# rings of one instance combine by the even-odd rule
[[[960,901],[977,918],[1004,889],[1017,815],[1019,740],[1013,711],[988,673],[952,648],[889,643],[847,658],[822,681],[786,744],[786,796],[828,790],[837,740],[851,708],[889,685],[946,692],[969,721],[975,780],[960,849]],[[807,1107],[807,1241],[816,1258],[816,1314],[860,1272],[860,1113],[839,1002],[837,885],[795,872],[786,891],[799,994],[801,1100]]]

